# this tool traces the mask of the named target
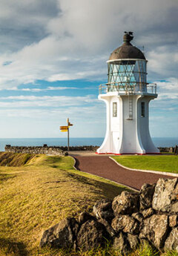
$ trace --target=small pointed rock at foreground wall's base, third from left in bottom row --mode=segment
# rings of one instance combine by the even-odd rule
[[[116,237],[113,238],[113,249],[119,250],[122,253],[127,253],[130,249],[127,237],[120,232]]]

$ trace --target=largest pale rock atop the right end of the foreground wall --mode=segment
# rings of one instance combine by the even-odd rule
[[[156,211],[178,213],[178,179],[159,179],[156,183],[152,206]],[[173,204],[173,205],[172,205]]]

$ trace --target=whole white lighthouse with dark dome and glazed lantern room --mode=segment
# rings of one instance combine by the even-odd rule
[[[123,44],[108,60],[108,82],[99,85],[107,127],[98,154],[159,153],[149,132],[149,102],[157,97],[156,84],[148,84],[148,61],[132,39],[133,33],[125,32]]]

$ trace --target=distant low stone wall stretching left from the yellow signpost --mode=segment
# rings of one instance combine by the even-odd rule
[[[29,153],[29,154],[52,154],[52,155],[67,155],[67,152],[63,151],[59,147],[48,147],[44,145],[42,147],[24,147],[24,146],[11,146],[6,145],[5,151],[12,153]]]

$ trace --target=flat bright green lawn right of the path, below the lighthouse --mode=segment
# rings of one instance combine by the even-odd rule
[[[118,156],[113,159],[128,168],[178,174],[178,156],[175,155]]]

